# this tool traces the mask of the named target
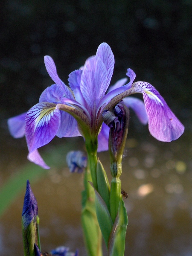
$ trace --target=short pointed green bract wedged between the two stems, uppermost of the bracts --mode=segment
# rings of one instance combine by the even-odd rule
[[[105,201],[105,204],[108,207],[110,212],[110,204],[109,204],[109,193],[110,193],[110,185],[108,181],[108,177],[106,175],[105,169],[102,166],[102,163],[97,161],[97,186],[98,192]]]

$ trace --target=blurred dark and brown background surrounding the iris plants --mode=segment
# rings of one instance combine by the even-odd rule
[[[155,140],[131,111],[122,188],[129,224],[125,255],[192,255],[192,2],[190,0],[3,0],[0,7],[0,255],[23,255],[21,213],[26,180],[38,201],[44,252],[65,245],[85,256],[80,212],[83,177],[70,174],[69,150],[82,138],[54,138],[40,151],[50,170],[29,163],[25,138],[13,139],[7,119],[38,103],[53,82],[96,54],[102,42],[115,56],[111,84],[125,77],[148,81],[185,125],[171,143]],[[137,96],[137,95],[136,95]],[[141,98],[141,95],[138,95]],[[108,152],[99,153],[109,172]],[[105,246],[104,251],[106,254]]]

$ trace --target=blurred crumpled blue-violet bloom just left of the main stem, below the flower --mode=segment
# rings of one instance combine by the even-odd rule
[[[81,173],[87,167],[87,157],[82,151],[70,151],[66,156],[70,172]]]

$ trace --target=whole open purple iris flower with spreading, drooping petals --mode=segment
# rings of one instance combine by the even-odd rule
[[[55,136],[83,136],[86,140],[99,134],[98,151],[108,150],[109,128],[102,124],[102,111],[110,110],[122,99],[125,105],[134,109],[143,124],[148,122],[149,131],[157,140],[170,142],[183,134],[184,126],[160,93],[147,82],[133,83],[136,76],[133,70],[127,70],[130,79],[127,84],[126,79],[121,79],[108,90],[114,68],[114,56],[108,44],[100,44],[96,55],[87,59],[83,69],[70,73],[69,86],[58,77],[52,58],[45,56],[44,61],[55,84],[45,89],[39,103],[26,113],[25,131],[21,131],[20,122],[20,128],[14,125],[25,114],[8,120],[14,137],[26,135],[28,159],[43,168],[49,166],[44,163],[38,148]],[[144,104],[140,99],[127,97],[134,93],[143,93]]]

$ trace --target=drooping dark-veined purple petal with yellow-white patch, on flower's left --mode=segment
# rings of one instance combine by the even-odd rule
[[[61,123],[61,112],[57,105],[41,102],[26,114],[25,134],[29,153],[49,143],[57,134]]]

